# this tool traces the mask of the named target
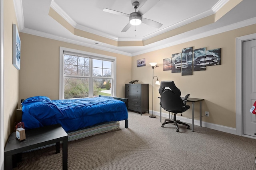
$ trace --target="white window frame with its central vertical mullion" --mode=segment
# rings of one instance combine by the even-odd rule
[[[60,84],[59,84],[59,99],[64,99],[64,75],[63,75],[63,69],[64,69],[64,51],[70,53],[70,54],[80,54],[84,57],[89,57],[92,59],[99,59],[99,60],[106,60],[106,61],[113,61],[112,64],[112,84],[111,84],[111,90],[112,94],[111,96],[116,96],[116,57],[108,56],[108,55],[102,55],[97,53],[91,53],[88,51],[80,51],[76,49],[70,49],[66,47],[60,47]],[[90,70],[92,70],[92,62],[90,62]],[[94,77],[92,76],[92,72],[90,72],[90,78],[89,78],[89,98],[94,97],[93,96],[93,83],[94,83]]]

